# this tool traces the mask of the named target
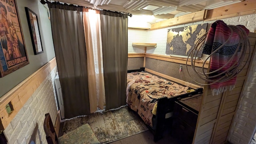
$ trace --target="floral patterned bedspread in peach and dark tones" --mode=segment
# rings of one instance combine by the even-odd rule
[[[144,122],[152,124],[152,110],[160,97],[174,97],[187,93],[188,87],[158,78],[146,72],[131,72],[127,74],[126,102],[138,112]]]

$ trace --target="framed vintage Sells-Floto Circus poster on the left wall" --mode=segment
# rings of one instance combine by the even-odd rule
[[[0,1],[0,77],[29,64],[16,0]]]

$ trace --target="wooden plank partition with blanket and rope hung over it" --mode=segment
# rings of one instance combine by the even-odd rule
[[[249,34],[252,56],[256,51],[256,33]],[[244,62],[245,63],[245,62]],[[194,144],[223,144],[226,142],[228,131],[232,123],[240,93],[247,77],[250,62],[237,76],[234,90],[212,96],[210,86],[204,87],[202,103],[198,115],[198,122],[194,134]]]

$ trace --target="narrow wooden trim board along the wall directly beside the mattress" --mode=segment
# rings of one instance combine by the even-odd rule
[[[167,75],[165,75],[165,74],[161,74],[160,72],[156,72],[156,71],[150,70],[150,69],[148,69],[148,68],[145,68],[145,71],[150,72],[150,73],[155,74],[155,75],[158,75],[158,76],[161,76],[161,77],[166,78],[166,79],[168,79],[168,80],[171,80],[171,81],[173,81],[173,82],[177,82],[177,83],[179,83],[179,84],[183,84],[184,86],[188,86],[188,87],[190,87],[190,88],[194,88],[194,89],[196,89],[196,88],[202,88],[202,87],[200,87],[200,86],[198,86],[198,85],[196,85],[196,84],[191,84],[191,83],[189,83],[189,82],[185,82],[185,81],[180,80],[180,79],[178,79],[178,78],[174,78],[174,77],[171,77],[171,76],[167,76]]]

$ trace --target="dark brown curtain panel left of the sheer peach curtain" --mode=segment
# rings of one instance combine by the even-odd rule
[[[90,114],[82,7],[48,3],[65,118]]]

